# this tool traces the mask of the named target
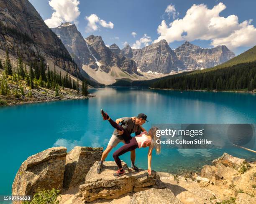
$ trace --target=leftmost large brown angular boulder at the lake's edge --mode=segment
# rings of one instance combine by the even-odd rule
[[[67,148],[52,147],[28,157],[18,170],[13,195],[33,195],[40,189],[62,189]]]

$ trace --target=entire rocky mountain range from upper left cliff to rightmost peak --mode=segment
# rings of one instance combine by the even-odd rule
[[[117,80],[150,80],[220,65],[235,55],[224,45],[204,49],[184,42],[172,50],[166,40],[140,49],[106,46],[101,36],[84,39],[66,22],[49,29],[28,0],[0,0],[0,49],[25,62],[46,58],[62,73],[105,85]]]

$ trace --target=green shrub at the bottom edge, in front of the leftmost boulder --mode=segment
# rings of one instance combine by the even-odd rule
[[[25,201],[22,204],[59,204],[57,196],[60,190],[51,189],[51,190],[41,190],[36,193],[31,202]]]

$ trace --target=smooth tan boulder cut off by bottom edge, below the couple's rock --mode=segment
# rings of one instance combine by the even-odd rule
[[[137,192],[131,199],[131,204],[182,204],[169,189],[148,189]]]

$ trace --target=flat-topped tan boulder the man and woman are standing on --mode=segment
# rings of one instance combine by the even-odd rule
[[[114,177],[118,167],[115,162],[104,162],[101,174],[97,174],[98,162],[90,168],[85,178],[85,184],[79,186],[79,197],[84,201],[91,202],[95,199],[116,199],[128,192],[138,192],[148,189],[155,184],[156,172],[148,175],[146,170],[136,173],[122,162],[125,175]]]

